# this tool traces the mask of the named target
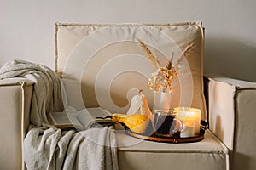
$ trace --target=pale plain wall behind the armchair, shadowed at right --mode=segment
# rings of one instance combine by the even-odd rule
[[[55,22],[202,20],[205,72],[256,82],[255,7],[253,0],[0,0],[0,65],[26,59],[54,68]]]

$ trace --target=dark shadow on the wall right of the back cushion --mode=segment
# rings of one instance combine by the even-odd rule
[[[256,46],[234,38],[206,37],[204,72],[256,82]]]

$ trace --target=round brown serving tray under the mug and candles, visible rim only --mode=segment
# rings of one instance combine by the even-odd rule
[[[200,134],[198,136],[195,137],[189,137],[189,138],[179,138],[177,135],[170,137],[170,138],[160,138],[160,137],[154,137],[154,136],[144,136],[143,134],[139,134],[139,133],[133,133],[130,129],[125,130],[125,132],[132,136],[135,137],[137,139],[145,139],[145,140],[149,140],[149,141],[154,141],[154,142],[166,142],[166,143],[173,143],[173,144],[178,144],[178,143],[191,143],[191,142],[199,142],[202,139],[204,139],[204,134]]]

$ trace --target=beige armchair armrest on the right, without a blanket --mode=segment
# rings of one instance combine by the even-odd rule
[[[232,169],[256,167],[256,83],[205,77],[209,128],[230,149]]]

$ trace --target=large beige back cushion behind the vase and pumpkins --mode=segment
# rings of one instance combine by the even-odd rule
[[[69,105],[78,110],[102,106],[126,112],[133,95],[143,89],[151,108],[154,92],[148,88],[153,72],[137,38],[147,44],[162,65],[174,60],[190,43],[195,48],[183,59],[180,77],[172,83],[172,107],[192,106],[206,119],[202,83],[203,29],[201,22],[166,25],[56,24],[55,71],[62,76]]]

